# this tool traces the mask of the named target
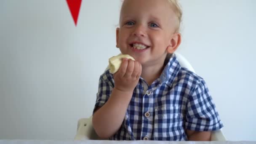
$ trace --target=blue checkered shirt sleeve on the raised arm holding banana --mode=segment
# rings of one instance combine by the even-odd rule
[[[111,75],[101,75],[99,78],[99,90],[97,92],[96,104],[93,109],[93,114],[97,107],[102,107],[112,92],[114,84],[112,83]]]

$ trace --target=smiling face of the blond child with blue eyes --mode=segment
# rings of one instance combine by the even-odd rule
[[[142,66],[159,64],[172,44],[176,23],[168,0],[125,0],[117,28],[117,47]]]

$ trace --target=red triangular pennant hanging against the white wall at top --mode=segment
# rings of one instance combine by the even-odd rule
[[[67,1],[67,5],[69,6],[70,13],[75,22],[75,26],[77,26],[77,19],[79,16],[82,0],[66,0],[66,1]]]

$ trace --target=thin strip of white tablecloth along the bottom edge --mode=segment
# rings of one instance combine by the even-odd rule
[[[256,141],[51,141],[0,140],[0,144],[256,144]]]

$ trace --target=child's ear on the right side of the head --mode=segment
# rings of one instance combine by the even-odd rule
[[[174,53],[180,44],[181,44],[181,34],[180,33],[173,34],[169,42],[169,46],[167,48],[168,53]]]

